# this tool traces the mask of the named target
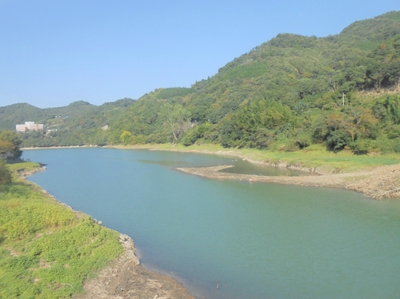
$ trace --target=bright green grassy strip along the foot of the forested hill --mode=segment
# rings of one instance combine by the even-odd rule
[[[305,168],[320,168],[325,172],[351,172],[357,170],[368,170],[378,166],[393,165],[400,163],[399,154],[370,154],[354,155],[350,151],[334,153],[327,151],[324,147],[313,145],[304,150],[295,152],[263,151],[257,149],[232,149],[223,148],[219,145],[173,145],[173,144],[152,144],[137,145],[120,148],[170,150],[184,152],[203,152],[220,155],[232,155],[246,158],[252,162],[264,163],[285,163]]]

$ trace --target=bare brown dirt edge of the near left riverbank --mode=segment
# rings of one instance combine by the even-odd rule
[[[25,180],[29,175],[45,170],[44,167],[14,166],[19,178]],[[40,188],[40,187],[39,187]],[[87,215],[72,210],[72,208],[40,188],[41,192],[54,200],[57,204],[75,213],[76,217],[84,218]],[[95,226],[101,223],[95,221]],[[169,276],[145,269],[135,255],[133,240],[119,234],[119,242],[123,253],[110,265],[104,268],[96,278],[85,281],[84,293],[75,295],[76,299],[98,298],[176,298],[194,299],[187,290]]]

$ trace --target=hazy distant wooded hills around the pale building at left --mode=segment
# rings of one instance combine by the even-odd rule
[[[44,131],[20,134],[24,147],[107,144],[107,129],[113,118],[133,100],[122,99],[101,106],[84,101],[66,107],[40,109],[32,105],[14,104],[0,107],[0,129],[15,130],[26,121],[44,124]]]

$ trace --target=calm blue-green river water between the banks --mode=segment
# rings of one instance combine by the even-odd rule
[[[30,181],[131,236],[145,267],[197,298],[399,298],[398,200],[176,170],[297,175],[214,155],[83,148],[23,158],[47,165]]]

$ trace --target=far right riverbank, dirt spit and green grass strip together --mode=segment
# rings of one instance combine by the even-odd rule
[[[332,153],[326,153],[327,160],[333,160],[336,158],[338,162],[333,160],[334,163],[330,161],[329,163],[324,164],[320,162],[321,158],[313,152],[304,153],[304,155],[309,155],[311,157],[308,158],[308,161],[306,160],[306,162],[297,162],[296,160],[284,161],[276,158],[268,159],[266,156],[263,156],[260,153],[261,151],[225,150],[219,147],[215,147],[214,149],[201,149],[201,147],[179,148],[172,146],[132,146],[117,148],[168,150],[231,156],[258,165],[288,168],[302,171],[305,174],[297,177],[286,177],[244,175],[221,172],[221,170],[231,167],[229,165],[202,168],[179,168],[180,171],[210,179],[340,188],[360,192],[374,199],[400,198],[400,160],[398,160],[398,157],[351,157],[349,155],[346,156],[345,154],[343,157],[341,157],[339,155],[334,156]],[[290,157],[290,154],[286,156]],[[314,163],[312,163],[313,157],[315,157]],[[313,175],[307,175],[307,173]]]

